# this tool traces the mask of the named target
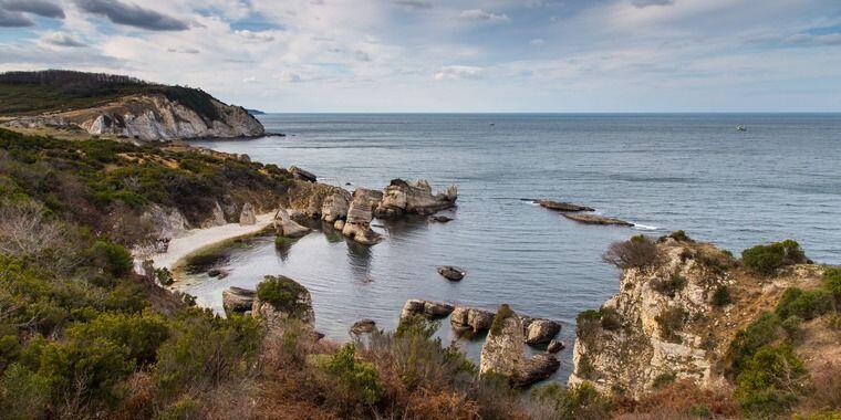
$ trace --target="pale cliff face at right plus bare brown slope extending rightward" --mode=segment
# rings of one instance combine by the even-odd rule
[[[657,249],[656,264],[624,270],[620,292],[579,316],[570,385],[632,397],[664,380],[725,385],[721,360],[736,332],[772,309],[786,287],[819,279],[807,265],[757,277],[709,244],[666,238]],[[723,287],[734,300],[715,304]]]

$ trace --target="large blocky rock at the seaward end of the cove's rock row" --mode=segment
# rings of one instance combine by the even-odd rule
[[[423,179],[406,182],[402,179],[392,180],[383,192],[383,200],[376,208],[378,218],[399,214],[432,214],[456,204],[456,186],[433,196],[429,183]]]

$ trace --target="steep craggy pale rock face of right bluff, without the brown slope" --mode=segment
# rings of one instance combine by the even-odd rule
[[[720,380],[714,365],[724,350],[715,347],[728,340],[710,340],[717,333],[703,319],[720,316],[710,300],[716,288],[731,283],[723,269],[729,256],[708,244],[673,239],[657,248],[658,264],[625,270],[616,295],[601,309],[579,315],[570,384],[586,380],[604,392],[621,388],[638,397],[662,375],[700,387]]]

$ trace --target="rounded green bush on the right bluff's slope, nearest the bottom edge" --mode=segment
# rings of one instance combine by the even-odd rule
[[[789,346],[760,348],[736,378],[736,399],[748,417],[768,418],[787,411],[808,377]]]

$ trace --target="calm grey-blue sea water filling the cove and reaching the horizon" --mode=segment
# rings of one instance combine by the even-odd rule
[[[368,317],[395,327],[408,298],[495,308],[564,323],[617,291],[601,253],[637,233],[683,229],[735,253],[793,238],[819,262],[841,263],[841,115],[264,115],[287,137],[198,141],[253,160],[298,165],[323,182],[382,189],[393,178],[459,187],[455,220],[375,222],[371,248],[313,233],[277,250],[238,250],[224,280],[187,291],[221,308],[229,285],[285,274],[312,293],[316,327],[347,339]],[[746,125],[746,133],[737,133]],[[584,203],[635,228],[582,225],[522,198]],[[467,270],[459,283],[437,265]],[[449,340],[445,319],[442,336]],[[461,342],[477,357],[481,340]],[[561,354],[558,379],[571,368]]]

